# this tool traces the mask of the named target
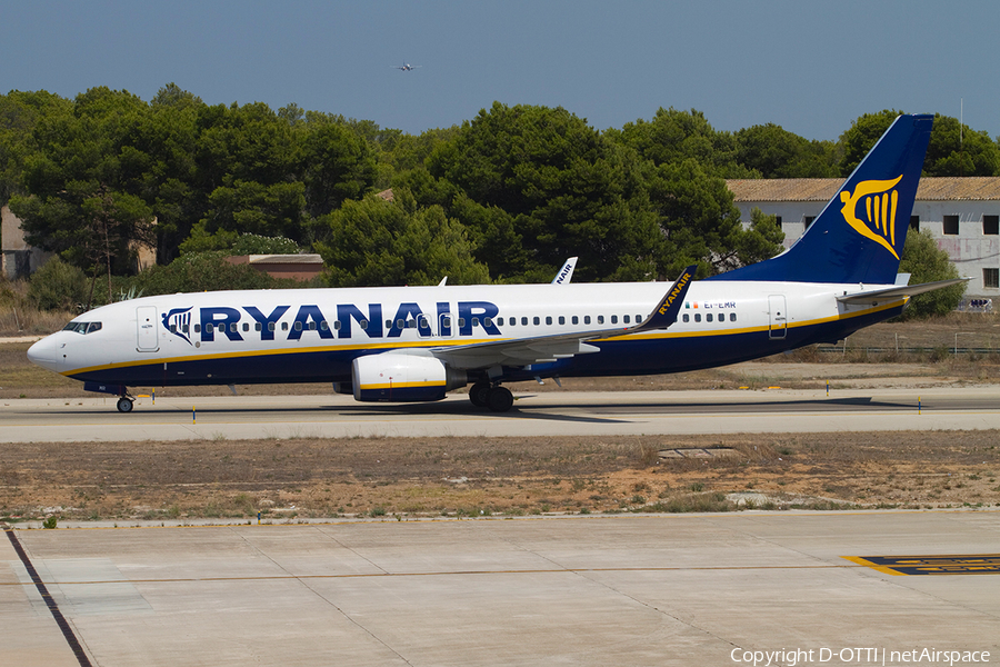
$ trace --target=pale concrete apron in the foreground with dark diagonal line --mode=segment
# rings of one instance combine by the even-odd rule
[[[687,667],[752,665],[753,651],[763,665],[779,650],[806,651],[799,665],[948,664],[891,659],[923,649],[1000,658],[1000,575],[899,576],[848,559],[997,560],[997,511],[14,532],[93,665]],[[6,538],[0,627],[0,664],[80,664]],[[791,664],[788,655],[771,664]]]

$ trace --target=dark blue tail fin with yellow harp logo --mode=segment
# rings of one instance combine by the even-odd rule
[[[713,278],[892,285],[932,125],[897,118],[791,248]]]

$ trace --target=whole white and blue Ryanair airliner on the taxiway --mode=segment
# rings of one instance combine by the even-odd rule
[[[429,401],[471,385],[502,412],[503,382],[679,372],[844,338],[957,281],[897,280],[931,116],[901,116],[783,253],[672,285],[218,291],[144,297],[73,319],[28,357],[90,391],[332,382],[361,401]]]

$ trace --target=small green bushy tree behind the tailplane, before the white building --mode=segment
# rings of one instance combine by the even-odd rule
[[[951,263],[948,252],[938,248],[934,237],[927,230],[908,233],[903,253],[899,262],[901,273],[910,273],[910,285],[922,285],[938,280],[959,278],[958,269]],[[926,319],[948,315],[962,300],[966,283],[946,287],[932,292],[917,295],[900,319]]]

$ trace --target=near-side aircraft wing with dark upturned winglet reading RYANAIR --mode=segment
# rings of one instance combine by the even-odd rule
[[[632,327],[586,329],[552,336],[489,340],[458,347],[433,348],[431,352],[453,368],[549,364],[577,355],[598,352],[600,348],[589,345],[588,341],[653,329],[666,329],[676,322],[683,305],[684,295],[691,285],[691,279],[694,277],[694,266],[684,269],[683,273],[670,286],[670,289],[667,290],[667,293],[660,299],[649,317]]]

